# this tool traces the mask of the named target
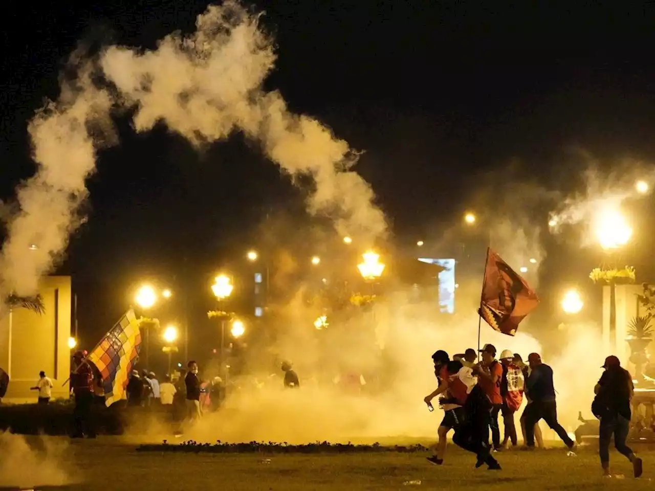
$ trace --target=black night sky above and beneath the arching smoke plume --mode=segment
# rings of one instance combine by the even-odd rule
[[[56,98],[58,73],[79,39],[153,47],[170,31],[193,29],[206,8],[188,0],[11,4],[2,11],[3,199],[33,173],[27,122]],[[267,88],[366,150],[357,170],[396,242],[438,233],[509,162],[517,175],[553,187],[582,170],[561,158],[572,146],[601,166],[625,155],[653,161],[650,10],[521,4],[257,3],[278,45]],[[121,145],[100,155],[88,181],[89,221],[60,268],[73,274],[89,343],[120,316],[140,278],[186,291],[203,316],[215,268],[256,242],[267,213],[302,209],[290,179],[240,137],[198,154],[163,127],[136,136],[118,124]],[[170,308],[179,315],[179,304]]]

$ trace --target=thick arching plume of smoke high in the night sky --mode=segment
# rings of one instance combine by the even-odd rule
[[[196,147],[242,132],[282,172],[312,177],[309,211],[333,217],[340,234],[373,240],[386,232],[373,191],[352,170],[357,153],[314,118],[291,113],[279,92],[263,90],[276,56],[258,21],[229,0],[198,16],[195,33],[168,35],[156,50],[109,46],[94,60],[73,55],[75,77],[64,79],[59,100],[29,125],[39,167],[18,188],[20,213],[0,257],[4,293],[35,293],[65,250],[96,150],[115,143],[107,140],[112,107],[136,109],[138,132],[164,122]],[[113,85],[111,94],[98,79]]]

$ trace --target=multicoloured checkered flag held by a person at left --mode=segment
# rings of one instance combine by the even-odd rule
[[[86,358],[102,376],[107,407],[122,399],[140,348],[139,321],[130,309]]]

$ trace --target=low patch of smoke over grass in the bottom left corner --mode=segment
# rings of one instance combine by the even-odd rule
[[[37,488],[65,486],[73,481],[62,468],[60,456],[64,446],[54,439],[39,440],[42,450],[35,450],[20,435],[0,433],[0,486],[3,488]]]

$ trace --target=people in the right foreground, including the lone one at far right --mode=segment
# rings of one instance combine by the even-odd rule
[[[534,450],[535,439],[538,446],[543,446],[538,423],[544,420],[565,443],[569,456],[575,455],[575,443],[557,421],[553,370],[543,363],[539,354],[531,353],[527,364],[523,363],[521,355],[510,350],[504,350],[500,359],[496,359],[495,346],[485,344],[480,350],[479,362],[476,360],[477,353],[472,348],[453,356],[452,360],[443,350],[432,355],[438,387],[426,395],[424,401],[434,410],[432,401],[439,397],[445,414],[429,462],[443,464],[447,434],[452,430],[453,443],[476,454],[476,467],[487,464],[488,469],[500,470],[496,453],[518,445],[515,413],[524,396],[527,404],[519,418],[524,448]],[[633,474],[639,477],[643,465],[641,458],[626,445],[634,390],[631,375],[621,367],[616,356],[607,357],[602,368],[605,372],[595,386],[591,409],[601,422],[599,454],[603,474],[610,475],[608,450],[613,435],[614,446],[630,460]],[[502,441],[499,415],[504,422]]]

